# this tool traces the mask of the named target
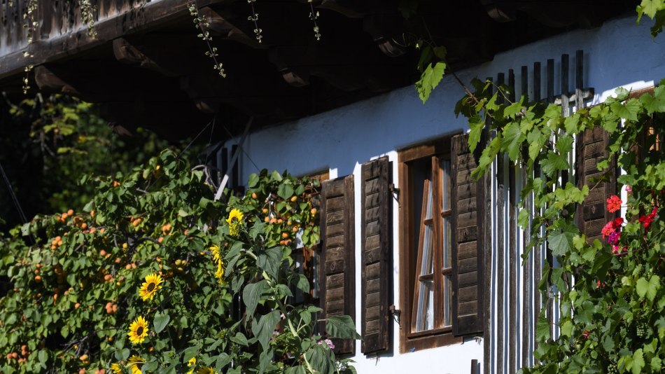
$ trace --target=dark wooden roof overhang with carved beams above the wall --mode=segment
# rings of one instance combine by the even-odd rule
[[[409,85],[419,56],[406,45],[418,36],[446,46],[458,68],[634,8],[625,1],[421,0],[419,13],[404,18],[401,0],[197,0],[222,78],[197,37],[188,11],[194,0],[92,0],[95,38],[78,1],[37,0],[29,45],[28,1],[0,2],[0,90],[21,92],[25,66],[34,65],[29,80],[39,90],[99,102],[111,122],[173,139],[215,115],[237,134],[248,116],[265,126]],[[252,5],[262,43],[248,20]]]

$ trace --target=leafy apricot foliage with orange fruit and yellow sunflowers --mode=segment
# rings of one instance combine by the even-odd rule
[[[320,309],[294,298],[311,288],[295,254],[316,251],[317,180],[264,170],[215,202],[203,173],[165,151],[81,182],[96,185],[83,212],[0,237],[2,373],[354,372],[325,342],[358,338],[351,319],[319,332]]]

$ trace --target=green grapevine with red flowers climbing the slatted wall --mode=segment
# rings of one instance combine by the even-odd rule
[[[534,354],[539,364],[524,368],[524,373],[661,373],[665,155],[656,134],[665,130],[664,83],[653,95],[646,93],[639,99],[629,99],[629,92],[619,89],[617,97],[591,109],[578,109],[567,118],[560,106],[526,104],[524,99],[498,104],[498,95],[507,97],[505,88],[491,95],[491,83],[479,81],[473,84],[476,92],[458,102],[457,113],[472,123],[470,147],[477,143],[483,148],[472,175],[488,172],[502,153],[526,169],[521,196],[533,193],[535,214],[523,206],[518,223],[530,230],[529,247],[547,243],[559,264],[545,265],[539,286],[546,303],[552,303],[551,295],[559,299],[561,333],[553,340],[543,308],[535,331],[539,345]],[[479,144],[479,132],[488,127],[496,137],[489,144]],[[568,162],[573,139],[594,127],[609,132],[610,157],[626,171],[619,183],[631,188],[624,202],[625,221],[610,221],[602,242],[591,242],[580,233],[575,212],[590,191],[608,181],[608,174],[614,172],[610,162],[598,162],[601,176],[591,186],[580,189],[560,183],[564,172],[573,175]],[[534,174],[537,167],[539,174]]]

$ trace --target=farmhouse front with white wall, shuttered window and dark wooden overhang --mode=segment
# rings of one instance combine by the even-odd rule
[[[399,1],[196,1],[227,78],[204,55],[188,1],[97,1],[95,39],[78,8],[38,1],[32,44],[10,17],[26,2],[0,6],[0,89],[20,92],[33,64],[29,85],[100,102],[130,132],[178,139],[214,122],[226,132],[212,166],[229,186],[259,167],[325,176],[313,282],[324,313],[351,315],[363,336],[336,342],[358,373],[514,373],[535,363],[543,308],[557,334],[556,290],[538,292],[555,260],[546,247],[522,257],[524,171],[498,158],[470,178],[477,157],[454,114],[457,78],[505,83],[507,99],[559,102],[566,116],[665,77],[665,37],[650,38],[649,22],[636,26],[617,2],[423,1],[405,19]],[[427,28],[456,76],[423,104],[407,45]],[[587,183],[605,141],[577,139],[571,180]],[[579,214],[589,237],[615,181],[596,191]]]

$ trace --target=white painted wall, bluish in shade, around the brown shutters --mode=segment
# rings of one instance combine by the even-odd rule
[[[458,75],[462,81],[469,82],[473,77],[496,76],[498,72],[507,72],[508,69],[519,72],[521,65],[529,65],[533,69],[535,61],[540,61],[544,69],[547,59],[553,58],[558,63],[563,53],[570,55],[571,66],[574,66],[575,50],[582,49],[584,85],[595,89],[593,103],[601,102],[619,86],[637,90],[665,77],[665,36],[651,39],[649,24],[648,20],[643,20],[643,25],[636,26],[635,16],[628,15],[608,21],[599,29],[570,32],[502,53],[492,62],[461,71]],[[559,67],[555,67],[555,71],[558,70]],[[571,74],[570,79],[573,83],[574,74]],[[557,85],[560,84],[558,74],[555,81]],[[560,92],[559,87],[554,91]],[[360,165],[363,162],[388,155],[393,161],[393,183],[398,186],[397,150],[467,129],[464,118],[454,116],[454,105],[463,93],[454,80],[446,76],[426,105],[419,100],[415,89],[409,86],[255,132],[248,136],[244,148],[248,157],[259,167],[279,171],[288,169],[294,175],[330,169],[331,177],[354,174],[356,181],[361,180]],[[518,91],[517,95],[520,93]],[[227,145],[236,141],[233,139]],[[240,156],[241,180],[257,172],[247,155]],[[360,217],[360,205],[357,202],[360,202],[360,189],[356,189],[356,217]],[[393,258],[399,258],[400,250],[397,209],[397,205],[393,204]],[[360,220],[356,221],[356,233],[360,233]],[[360,248],[360,235],[356,235],[356,248]],[[493,250],[496,251],[496,247]],[[493,263],[496,266],[496,261]],[[360,251],[356,251],[358,320],[361,315],[359,264]],[[399,305],[399,271],[395,262],[394,303],[398,309],[403,309]],[[493,289],[492,300],[496,299],[496,294],[496,289]],[[354,359],[358,373],[469,373],[472,359],[482,363],[482,343],[474,340],[400,354],[399,326],[393,326],[392,352],[382,354],[378,360],[375,355],[365,357],[360,354],[360,345],[357,345]],[[492,352],[495,352],[495,344],[493,342]]]

